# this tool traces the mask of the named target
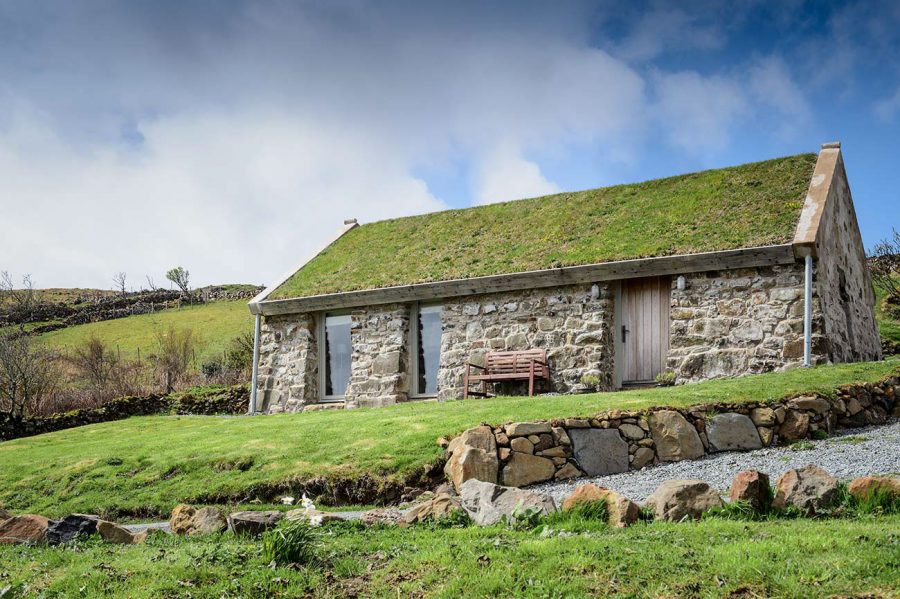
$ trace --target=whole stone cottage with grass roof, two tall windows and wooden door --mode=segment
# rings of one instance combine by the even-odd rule
[[[456,399],[466,364],[504,350],[546,350],[561,393],[664,371],[681,383],[881,357],[838,143],[639,184],[347,221],[250,310],[254,408],[270,413]]]

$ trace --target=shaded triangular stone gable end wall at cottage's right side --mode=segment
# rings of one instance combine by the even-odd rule
[[[838,157],[816,236],[816,291],[833,362],[881,359],[875,293],[853,199]]]

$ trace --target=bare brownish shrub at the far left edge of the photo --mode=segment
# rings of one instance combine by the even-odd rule
[[[21,420],[58,390],[61,379],[55,354],[27,335],[0,333],[0,414]]]

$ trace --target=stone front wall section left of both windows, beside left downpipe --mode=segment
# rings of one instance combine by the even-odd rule
[[[257,403],[270,414],[299,412],[319,401],[316,317],[267,317],[260,327]]]

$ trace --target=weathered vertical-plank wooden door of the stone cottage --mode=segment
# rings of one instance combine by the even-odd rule
[[[669,352],[670,277],[647,277],[622,283],[622,382],[648,382],[666,368]]]

